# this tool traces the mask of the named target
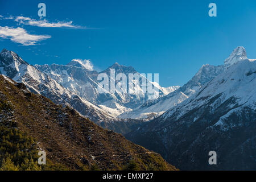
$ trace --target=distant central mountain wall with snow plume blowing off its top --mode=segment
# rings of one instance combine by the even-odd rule
[[[134,88],[130,90],[130,93],[119,92],[119,90],[116,90],[114,93],[100,93],[98,91],[100,85],[100,81],[97,80],[98,74],[106,73],[110,78],[110,69],[114,69],[115,75],[124,73],[129,78],[129,73],[138,73],[133,67],[125,67],[114,63],[108,69],[98,73],[86,69],[81,61],[75,60],[72,60],[67,65],[35,65],[35,67],[59,82],[70,92],[92,102],[92,104],[105,110],[106,113],[109,113],[113,117],[131,111],[152,98],[155,99],[155,97],[152,97],[152,94],[144,93],[140,83],[135,80],[133,80]],[[138,74],[143,77],[140,73]],[[115,84],[120,86],[120,82],[115,81]],[[178,86],[163,88],[156,82],[151,82],[151,84],[159,89],[159,97],[163,97],[178,88]],[[127,88],[129,88],[128,85]]]

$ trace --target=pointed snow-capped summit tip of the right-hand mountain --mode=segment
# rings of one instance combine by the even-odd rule
[[[247,59],[245,48],[238,46],[231,55],[224,61],[225,65],[232,65],[238,61]]]

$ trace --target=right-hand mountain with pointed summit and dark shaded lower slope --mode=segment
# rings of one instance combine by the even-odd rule
[[[255,170],[256,61],[238,47],[223,67],[187,100],[126,137],[180,169]],[[217,165],[209,165],[209,151],[217,152]]]

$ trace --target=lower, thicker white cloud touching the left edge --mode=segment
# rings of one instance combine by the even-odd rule
[[[39,42],[44,39],[51,38],[50,35],[32,35],[28,34],[23,28],[12,28],[12,27],[1,27],[0,26],[0,38],[10,39],[13,42],[20,43],[23,46],[35,45],[36,42]]]

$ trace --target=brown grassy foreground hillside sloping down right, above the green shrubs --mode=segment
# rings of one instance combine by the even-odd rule
[[[15,129],[34,138],[38,149],[46,151],[48,162],[68,169],[90,169],[92,166],[123,169],[133,160],[142,170],[176,169],[159,154],[102,129],[75,110],[55,105],[48,98],[29,92],[24,84],[17,84],[3,75],[0,75],[0,102],[1,127],[3,123],[14,127],[8,123],[15,123]]]

